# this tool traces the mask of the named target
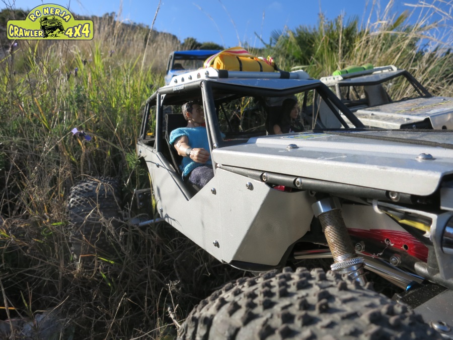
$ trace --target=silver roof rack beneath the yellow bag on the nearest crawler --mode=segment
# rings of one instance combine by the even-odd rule
[[[247,79],[313,79],[307,72],[298,70],[292,72],[252,72],[252,71],[228,71],[217,70],[213,67],[199,69],[173,76],[168,86],[175,86],[198,79],[218,79],[218,78],[247,78]]]

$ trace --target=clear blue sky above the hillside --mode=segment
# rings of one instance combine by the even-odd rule
[[[161,0],[153,28],[159,32],[172,33],[183,42],[193,37],[199,42],[214,42],[225,48],[244,45],[263,47],[269,43],[275,30],[294,30],[300,25],[315,26],[319,13],[328,19],[343,15],[345,20],[356,16],[366,23],[372,13],[371,22],[376,22],[376,13],[384,13],[389,0],[378,0],[372,9],[373,0]],[[419,0],[395,0],[392,12],[416,11],[411,5]],[[426,0],[440,11],[449,12],[453,0]],[[5,5],[6,4],[6,5]],[[58,4],[76,15],[102,16],[105,13],[120,13],[119,19],[152,26],[159,0],[2,0],[0,7],[31,10],[42,4]],[[426,10],[424,10],[426,11]],[[440,12],[439,11],[439,12]],[[450,25],[451,25],[450,12]],[[439,16],[433,18],[438,20]],[[415,21],[415,19],[413,19]]]

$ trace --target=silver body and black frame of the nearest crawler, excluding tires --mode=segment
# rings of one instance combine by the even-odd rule
[[[270,134],[288,97],[314,113],[318,129]],[[168,143],[187,124],[180,106],[190,100],[203,105],[214,170],[201,189],[182,180]],[[409,304],[451,335],[452,133],[367,129],[374,124],[360,120],[304,72],[209,68],[174,77],[147,100],[136,151],[161,218],[218,260],[264,271],[330,256],[334,271],[362,285],[369,269],[403,288],[406,303],[441,287]]]

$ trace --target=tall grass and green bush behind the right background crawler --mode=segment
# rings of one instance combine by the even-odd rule
[[[328,20],[320,14],[317,26],[274,31],[266,54],[280,67],[303,69],[314,78],[349,65],[393,64],[410,71],[432,94],[453,95],[453,5],[433,0],[403,13],[393,10],[394,1],[380,5],[368,3],[370,15],[361,19]],[[378,19],[371,22],[371,15]]]

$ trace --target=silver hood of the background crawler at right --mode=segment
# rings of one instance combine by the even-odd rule
[[[354,108],[351,108],[354,111]],[[453,98],[413,98],[379,106],[359,108],[354,114],[367,126],[400,128],[429,118],[434,129],[453,129]]]

